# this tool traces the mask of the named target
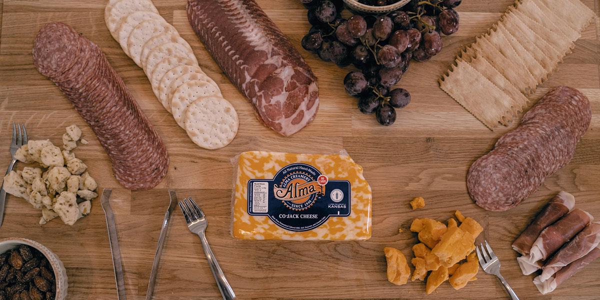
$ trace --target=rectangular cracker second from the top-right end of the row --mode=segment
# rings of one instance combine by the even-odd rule
[[[569,41],[577,41],[581,37],[581,32],[569,27],[560,17],[546,13],[533,0],[523,0],[521,3],[517,3],[517,10],[526,14],[539,25],[548,28],[556,34],[562,35]]]

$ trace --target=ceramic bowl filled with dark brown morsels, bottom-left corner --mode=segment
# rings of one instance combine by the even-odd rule
[[[0,300],[65,300],[67,286],[65,266],[50,249],[31,239],[0,240]]]

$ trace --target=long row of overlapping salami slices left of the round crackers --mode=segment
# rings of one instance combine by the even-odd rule
[[[147,190],[164,178],[163,140],[96,44],[69,25],[48,23],[35,38],[33,57],[88,122],[124,187]]]

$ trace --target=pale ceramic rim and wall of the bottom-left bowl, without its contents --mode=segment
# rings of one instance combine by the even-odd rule
[[[58,256],[50,251],[50,249],[44,247],[44,245],[36,241],[32,241],[31,239],[22,238],[0,239],[0,254],[19,247],[20,245],[31,246],[46,256],[54,271],[54,277],[56,278],[56,295],[54,299],[65,300],[67,298],[68,287],[67,270],[65,270],[65,266],[62,264],[61,260],[58,259]]]

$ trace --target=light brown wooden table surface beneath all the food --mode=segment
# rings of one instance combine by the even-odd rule
[[[548,178],[529,200],[507,212],[487,212],[473,204],[465,187],[469,165],[489,151],[509,130],[490,131],[437,87],[437,79],[476,35],[489,28],[512,0],[465,0],[459,8],[461,28],[444,38],[442,53],[416,63],[401,86],[412,103],[398,113],[392,127],[362,115],[346,95],[342,79],[350,68],[338,68],[301,49],[310,25],[298,1],[261,0],[260,5],[288,35],[314,70],[320,83],[320,110],[313,124],[292,137],[278,136],[259,124],[248,101],[227,80],[185,15],[185,0],[155,0],[160,13],[193,46],[200,65],[217,81],[224,97],[239,113],[238,137],[231,145],[207,151],[194,145],[152,94],[143,71],[125,56],[104,25],[104,1],[0,0],[0,162],[8,164],[11,123],[27,125],[30,139],[59,145],[64,128],[77,124],[89,145],[76,149],[100,187],[113,188],[127,295],[144,299],[164,210],[167,188],[180,198],[195,197],[210,226],[208,239],[239,299],[506,299],[496,278],[480,272],[478,280],[455,291],[448,283],[425,295],[419,281],[394,286],[386,280],[383,247],[397,247],[410,259],[416,237],[410,222],[417,217],[446,220],[455,209],[478,220],[480,239],[491,242],[502,261],[503,274],[521,299],[597,299],[600,262],[590,265],[547,296],[539,295],[532,276],[520,274],[510,245],[533,215],[559,190],[573,193],[577,207],[600,218],[600,50],[596,22],[577,41],[574,53],[532,96],[539,98],[556,85],[578,88],[592,101],[592,125],[573,161]],[[598,0],[584,0],[598,13]],[[170,155],[167,177],[151,191],[131,192],[112,176],[107,155],[69,101],[32,64],[32,43],[41,25],[62,21],[102,47],[124,78],[144,112],[163,137]],[[250,150],[332,153],[346,149],[365,169],[373,188],[373,238],[364,242],[238,241],[230,235],[232,164]],[[22,167],[19,164],[17,167]],[[411,211],[414,196],[427,200]],[[22,199],[9,197],[0,238],[19,236],[47,245],[64,262],[69,277],[68,299],[116,299],[104,214],[98,201],[92,213],[73,227],[55,220],[38,225],[40,212]],[[398,233],[398,228],[404,230]],[[155,299],[219,299],[197,236],[188,232],[175,211],[158,274]]]

